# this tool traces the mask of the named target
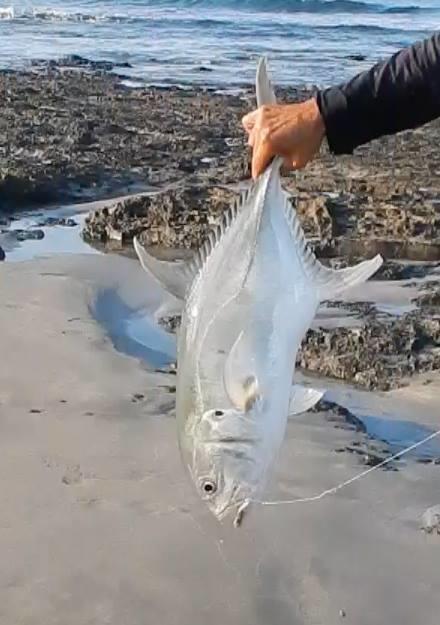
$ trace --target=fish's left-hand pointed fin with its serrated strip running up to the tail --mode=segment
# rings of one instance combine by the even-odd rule
[[[181,300],[185,299],[188,288],[191,286],[195,276],[203,268],[213,249],[234,222],[252,190],[253,187],[250,187],[250,189],[243,191],[239,195],[223,214],[220,224],[212,228],[201,247],[189,261],[160,260],[147,252],[139,239],[134,237],[134,249],[144,270],[152,274],[163,288],[174,295],[174,297]]]

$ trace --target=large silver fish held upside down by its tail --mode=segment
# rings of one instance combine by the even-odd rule
[[[266,60],[258,106],[276,102]],[[380,255],[334,270],[321,264],[282,188],[275,158],[190,261],[168,262],[136,238],[143,268],[182,302],[176,420],[183,464],[219,521],[242,524],[273,475],[289,416],[325,390],[294,381],[301,341],[320,303],[362,284]]]

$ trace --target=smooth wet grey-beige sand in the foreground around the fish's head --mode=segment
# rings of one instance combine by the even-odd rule
[[[439,536],[420,525],[440,503],[439,466],[408,460],[219,526],[182,470],[175,376],[118,352],[94,316],[103,293],[136,314],[163,305],[137,263],[58,256],[3,264],[0,280],[2,624],[437,625]],[[329,398],[435,427],[430,377]],[[291,420],[268,497],[315,495],[365,468],[335,451],[361,433],[335,425],[322,412]]]

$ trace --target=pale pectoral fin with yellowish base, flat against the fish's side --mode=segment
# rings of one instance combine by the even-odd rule
[[[260,399],[258,376],[251,350],[246,349],[244,330],[226,358],[223,383],[230,402],[237,410],[248,412]]]

